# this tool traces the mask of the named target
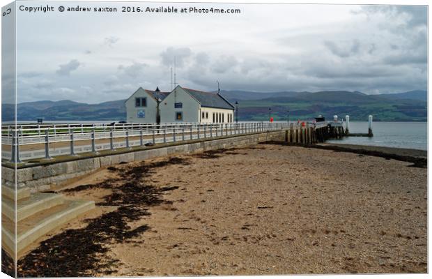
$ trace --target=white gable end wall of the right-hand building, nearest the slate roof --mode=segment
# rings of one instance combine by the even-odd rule
[[[175,107],[175,103],[182,103],[182,107]],[[192,98],[186,91],[177,86],[168,96],[160,103],[160,121],[161,122],[198,122],[199,121],[199,103]],[[176,119],[176,112],[181,112],[183,119]]]

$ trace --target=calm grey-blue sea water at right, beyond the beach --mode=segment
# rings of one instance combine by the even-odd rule
[[[373,122],[373,137],[344,137],[329,143],[428,149],[427,122]],[[367,133],[367,122],[350,121],[350,133]]]

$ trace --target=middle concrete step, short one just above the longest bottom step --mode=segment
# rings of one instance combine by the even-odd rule
[[[63,204],[64,196],[51,193],[34,193],[26,199],[17,202],[17,222],[40,211]],[[15,203],[11,199],[1,197],[1,212],[10,220],[15,220]]]

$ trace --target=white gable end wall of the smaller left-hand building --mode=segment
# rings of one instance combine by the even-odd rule
[[[146,98],[146,107],[136,107],[135,98]],[[125,102],[126,105],[126,121],[132,123],[155,123],[156,122],[156,100],[141,87],[135,91]],[[144,117],[139,117],[143,115]]]

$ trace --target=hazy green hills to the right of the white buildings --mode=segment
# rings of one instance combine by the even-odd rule
[[[373,114],[375,121],[427,121],[426,91],[410,91],[399,94],[368,95],[359,91],[274,92],[261,93],[264,98],[252,99],[256,92],[222,91],[232,103],[239,103],[239,118],[249,121],[268,119],[269,108],[275,120],[313,119],[323,114],[350,115],[354,121],[366,121]],[[387,96],[388,95],[388,96]],[[421,98],[422,99],[422,98]]]

